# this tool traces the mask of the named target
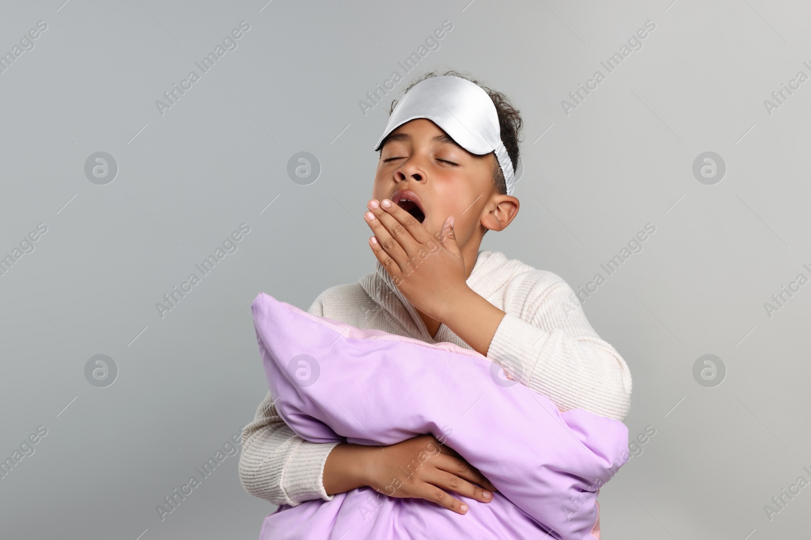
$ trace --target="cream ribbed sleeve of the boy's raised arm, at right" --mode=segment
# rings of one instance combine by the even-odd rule
[[[487,358],[512,369],[521,384],[560,410],[581,408],[624,420],[631,405],[628,365],[594,332],[568,283],[538,284],[531,275],[509,283],[511,305],[505,305]]]

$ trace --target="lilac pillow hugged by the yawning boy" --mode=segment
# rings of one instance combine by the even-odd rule
[[[361,487],[282,505],[265,518],[264,538],[400,538],[404,527],[426,538],[461,538],[460,529],[477,538],[482,528],[490,538],[599,538],[599,487],[629,459],[624,423],[561,413],[450,342],[361,330],[264,292],[251,309],[277,411],[299,436],[388,445],[431,433],[498,489],[487,504],[461,497],[461,515]]]

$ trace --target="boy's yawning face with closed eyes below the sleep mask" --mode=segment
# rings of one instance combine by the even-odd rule
[[[405,122],[384,142],[375,173],[372,198],[392,198],[395,191],[417,194],[425,213],[423,226],[437,238],[442,223],[455,216],[457,243],[491,226],[491,211],[500,198],[493,181],[496,156],[475,155],[453,142],[427,118]],[[393,200],[397,204],[398,201]],[[506,223],[504,224],[506,226]]]

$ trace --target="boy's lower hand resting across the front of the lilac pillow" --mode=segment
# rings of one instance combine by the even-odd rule
[[[493,500],[491,491],[496,491],[478,469],[432,435],[374,449],[364,477],[367,486],[385,495],[431,500],[460,514],[467,512],[466,504],[445,490],[483,503]]]

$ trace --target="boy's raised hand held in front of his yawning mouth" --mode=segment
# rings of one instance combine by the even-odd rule
[[[383,206],[387,201],[389,205]],[[453,216],[445,219],[435,238],[396,203],[383,202],[372,199],[364,215],[375,233],[369,239],[371,250],[403,296],[428,317],[442,321],[453,303],[471,292]]]

